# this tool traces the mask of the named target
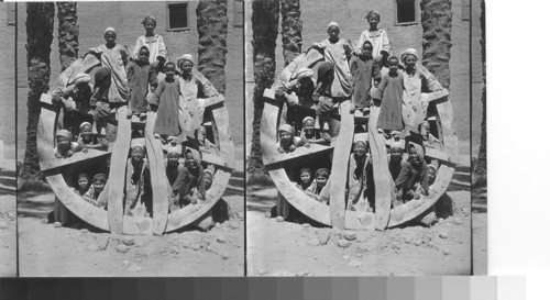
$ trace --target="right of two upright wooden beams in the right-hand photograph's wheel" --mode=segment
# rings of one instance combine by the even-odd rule
[[[384,231],[387,227],[389,211],[392,209],[392,176],[387,166],[386,141],[377,130],[378,115],[380,108],[371,108],[369,141],[373,159],[375,186],[375,229]]]

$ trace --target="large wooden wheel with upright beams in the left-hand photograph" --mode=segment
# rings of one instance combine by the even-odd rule
[[[89,74],[99,66],[99,60],[92,55],[86,55],[70,65],[58,78],[57,85],[64,86],[70,78],[80,73]],[[186,205],[175,212],[168,212],[170,190],[166,179],[164,151],[160,140],[154,137],[155,112],[148,112],[146,120],[127,118],[127,107],[112,111],[112,122],[117,125],[117,140],[109,145],[108,152],[89,149],[87,153],[75,153],[68,158],[54,156],[54,136],[59,114],[59,107],[52,103],[51,93],[42,95],[42,111],[37,127],[37,149],[41,169],[52,187],[55,196],[63,204],[82,221],[90,225],[118,234],[156,234],[176,231],[200,220],[222,197],[232,171],[234,145],[229,135],[229,116],[222,96],[205,99],[205,120],[209,120],[215,144],[219,155],[202,154],[201,162],[213,165],[216,171],[212,185],[207,191],[206,200],[198,204]],[[129,157],[132,129],[144,130],[144,144],[151,169],[151,186],[153,189],[153,216],[129,216],[123,213],[125,164]],[[107,192],[100,195],[107,198],[108,210],[95,207],[74,192],[67,185],[64,174],[85,165],[95,164],[97,159],[110,157],[110,174]]]

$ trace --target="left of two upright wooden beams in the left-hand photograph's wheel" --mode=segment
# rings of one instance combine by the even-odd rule
[[[111,155],[111,168],[109,171],[109,230],[112,233],[123,233],[123,215],[124,215],[124,186],[127,175],[127,160],[130,152],[130,141],[132,135],[132,123],[127,118],[127,107],[117,110],[119,126],[117,129],[117,141]]]

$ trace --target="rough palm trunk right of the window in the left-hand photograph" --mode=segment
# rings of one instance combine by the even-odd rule
[[[197,68],[220,93],[226,93],[228,1],[201,0],[196,12],[199,33]]]

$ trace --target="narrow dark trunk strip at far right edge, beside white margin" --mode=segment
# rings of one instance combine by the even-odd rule
[[[480,41],[482,46],[482,73],[483,73],[483,91],[482,91],[482,135],[480,144],[480,154],[477,155],[477,162],[475,163],[474,169],[474,182],[473,186],[484,186],[487,180],[487,74],[485,68],[485,0],[481,1],[482,13],[481,13],[481,27],[482,27],[482,38]]]

